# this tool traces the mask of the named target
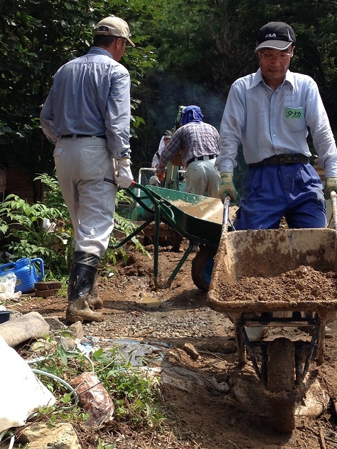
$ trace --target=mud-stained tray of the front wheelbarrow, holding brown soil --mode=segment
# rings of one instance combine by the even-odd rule
[[[210,307],[230,314],[241,312],[268,313],[273,311],[316,311],[326,314],[337,309],[337,232],[331,229],[279,229],[246,230],[224,233],[221,237],[213,275],[208,292]],[[334,287],[329,298],[324,292],[314,289],[307,298],[301,294],[301,285],[296,292],[296,274],[289,279],[294,284],[291,296],[279,296],[278,292],[268,294],[265,299],[263,280],[281,276],[299,267],[311,267],[317,272],[336,273],[329,276]],[[301,271],[301,270],[300,270]],[[311,276],[311,270],[302,270],[299,276]],[[251,292],[240,291],[244,278],[261,278]],[[283,281],[286,283],[287,279]],[[235,294],[230,293],[230,287]],[[334,298],[331,298],[334,296]]]

